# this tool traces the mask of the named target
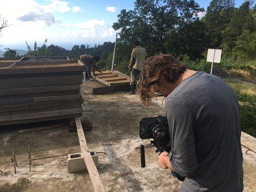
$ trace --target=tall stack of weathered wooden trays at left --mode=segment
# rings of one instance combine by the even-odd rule
[[[80,60],[2,62],[0,125],[82,116],[84,70]]]

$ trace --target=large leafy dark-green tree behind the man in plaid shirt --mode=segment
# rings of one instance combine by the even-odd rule
[[[140,39],[148,55],[172,52],[177,56],[187,53],[193,59],[200,57],[205,48],[205,27],[197,14],[202,11],[194,0],[136,0],[134,10],[122,10],[113,24],[115,30],[121,30],[118,47],[122,48],[117,49],[117,54],[128,59],[134,39]],[[195,28],[201,31],[191,34]],[[199,40],[189,42],[198,37],[197,33]],[[179,40],[184,43],[177,44]],[[186,43],[190,43],[189,48],[184,46]]]

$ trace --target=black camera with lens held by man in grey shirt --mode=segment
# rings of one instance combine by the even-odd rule
[[[141,139],[153,139],[150,141],[157,150],[156,152],[168,152],[171,151],[171,135],[169,131],[169,125],[167,118],[159,115],[153,118],[143,118],[139,124],[140,138]],[[145,157],[144,157],[145,159]],[[178,173],[171,172],[173,177],[183,181],[185,178]]]

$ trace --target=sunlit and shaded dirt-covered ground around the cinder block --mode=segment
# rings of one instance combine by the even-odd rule
[[[138,95],[125,92],[92,95],[98,82],[81,86],[84,96],[84,116],[93,120],[93,130],[85,131],[87,145],[98,153],[98,172],[107,192],[178,192],[181,182],[169,170],[158,167],[154,148],[146,148],[146,168],[140,167],[140,153],[135,149],[141,140],[138,122],[144,117],[164,115],[162,97],[144,107]],[[32,159],[80,152],[76,132],[67,127],[20,134],[18,126],[0,127],[0,192],[94,192],[89,174],[67,172],[66,156],[27,162],[27,144]],[[243,143],[256,150],[256,138],[243,134]],[[253,143],[253,144],[252,144]],[[14,175],[11,145],[18,162]],[[256,154],[244,153],[244,191],[256,192]]]

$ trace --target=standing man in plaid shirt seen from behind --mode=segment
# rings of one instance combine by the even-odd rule
[[[135,40],[129,67],[130,72],[132,72],[131,92],[129,92],[130,95],[135,95],[136,84],[142,70],[142,64],[146,60],[146,56],[146,49],[140,46],[140,42],[138,40]]]

